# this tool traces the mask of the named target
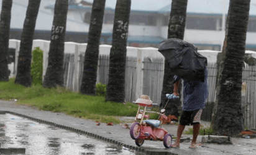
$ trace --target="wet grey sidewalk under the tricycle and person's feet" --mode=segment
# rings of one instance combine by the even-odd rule
[[[256,154],[256,139],[231,138],[233,144],[203,144],[196,149],[189,149],[190,142],[183,142],[179,149],[165,149],[162,141],[145,141],[141,147],[137,147],[134,140],[130,138],[129,129],[122,128],[121,125],[107,126],[105,123],[97,126],[96,122],[74,118],[63,113],[53,113],[37,110],[25,105],[16,105],[15,102],[0,100],[0,110],[19,115],[31,120],[56,125],[57,128],[72,130],[81,134],[93,136],[118,144],[129,149],[138,150],[145,154]],[[202,124],[208,122],[201,122]],[[128,123],[129,126],[131,123]],[[173,136],[176,136],[176,125],[163,125],[162,128]],[[192,135],[183,135],[183,138],[192,138]],[[201,143],[202,136],[198,136],[198,144]],[[174,141],[173,141],[174,143]]]

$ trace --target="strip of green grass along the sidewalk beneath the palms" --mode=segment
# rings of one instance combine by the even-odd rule
[[[127,102],[126,105],[116,102],[105,102],[105,97],[82,95],[63,87],[46,89],[42,85],[24,87],[14,84],[14,78],[0,82],[0,99],[17,99],[17,104],[37,107],[39,110],[62,112],[74,117],[91,119],[99,122],[120,123],[118,117],[135,117],[138,106]],[[150,114],[150,119],[158,115]]]

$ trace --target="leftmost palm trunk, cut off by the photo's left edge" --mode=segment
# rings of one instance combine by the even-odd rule
[[[8,48],[12,0],[2,0],[0,23],[0,81],[9,81]]]

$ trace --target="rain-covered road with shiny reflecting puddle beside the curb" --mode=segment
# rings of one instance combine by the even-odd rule
[[[0,115],[0,143],[1,148],[25,148],[27,155],[140,154],[9,113]]]

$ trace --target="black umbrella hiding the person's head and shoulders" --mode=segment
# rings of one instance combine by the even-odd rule
[[[170,38],[160,43],[158,51],[167,59],[172,73],[187,82],[204,82],[207,58],[198,53],[197,47],[178,38]]]

